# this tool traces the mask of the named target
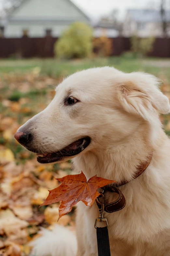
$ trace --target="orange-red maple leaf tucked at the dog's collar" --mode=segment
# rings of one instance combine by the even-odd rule
[[[83,172],[76,175],[67,175],[57,180],[63,184],[58,188],[49,190],[47,199],[40,206],[62,201],[59,208],[59,219],[70,212],[72,207],[79,201],[82,201],[87,206],[92,206],[99,196],[97,189],[115,182],[114,180],[97,177],[97,175],[87,181]]]

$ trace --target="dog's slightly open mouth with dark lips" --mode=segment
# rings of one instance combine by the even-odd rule
[[[87,146],[89,146],[90,141],[91,141],[90,137],[84,137],[71,143],[70,145],[66,146],[60,151],[49,153],[49,154],[36,154],[37,161],[42,164],[53,163],[53,162],[61,161],[65,157],[78,155],[85,148],[87,148]]]

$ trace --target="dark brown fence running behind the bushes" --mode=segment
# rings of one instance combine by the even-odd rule
[[[9,57],[54,57],[54,44],[57,38],[47,36],[45,38],[0,38],[0,58]],[[129,38],[112,38],[113,53],[119,56],[131,49]],[[170,57],[170,38],[156,38],[152,52],[149,56]]]

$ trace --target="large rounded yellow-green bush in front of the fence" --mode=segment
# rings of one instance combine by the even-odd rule
[[[92,28],[75,22],[64,31],[54,46],[58,58],[84,58],[92,54]]]

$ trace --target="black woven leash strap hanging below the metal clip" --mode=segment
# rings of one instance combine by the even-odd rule
[[[110,244],[107,227],[97,228],[98,256],[110,256]]]

